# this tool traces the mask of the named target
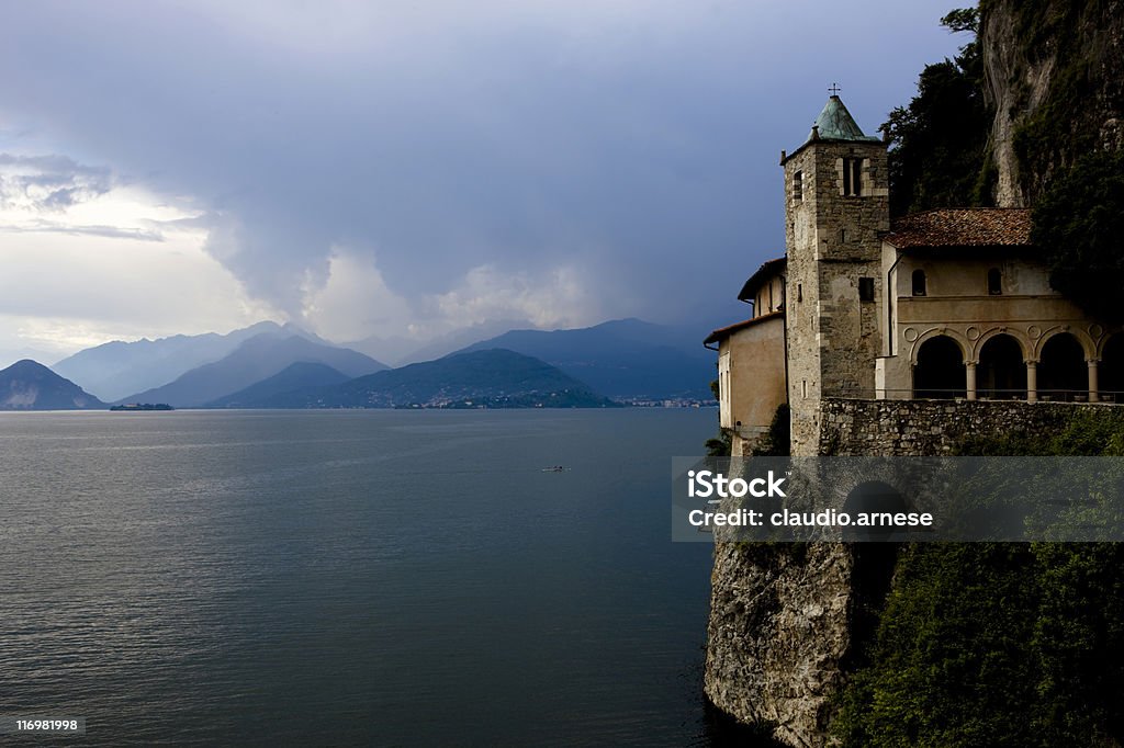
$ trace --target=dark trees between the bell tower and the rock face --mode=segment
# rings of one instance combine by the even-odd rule
[[[988,134],[994,112],[984,93],[976,8],[953,10],[942,24],[973,35],[954,60],[927,65],[908,107],[890,112],[890,212],[990,204],[994,168]]]

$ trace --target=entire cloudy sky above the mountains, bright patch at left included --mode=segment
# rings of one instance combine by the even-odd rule
[[[0,363],[291,320],[737,319],[781,148],[873,133],[928,0],[0,4]]]

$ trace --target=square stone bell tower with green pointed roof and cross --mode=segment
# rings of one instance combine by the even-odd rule
[[[873,398],[881,353],[886,143],[864,135],[837,86],[785,168],[786,334],[792,454],[819,451],[823,398]]]

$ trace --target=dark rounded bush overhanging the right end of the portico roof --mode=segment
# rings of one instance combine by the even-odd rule
[[[1050,284],[1094,317],[1124,321],[1124,153],[1082,156],[1033,213],[1031,240],[1050,264]]]

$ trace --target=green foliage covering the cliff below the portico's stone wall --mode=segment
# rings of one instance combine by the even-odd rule
[[[1082,412],[959,454],[1121,456],[1124,426]],[[1122,567],[1122,544],[906,546],[833,732],[863,747],[1116,745]]]

